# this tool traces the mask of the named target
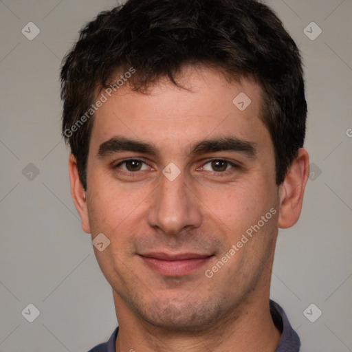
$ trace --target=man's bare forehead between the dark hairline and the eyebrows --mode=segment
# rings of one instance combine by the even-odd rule
[[[233,135],[253,142],[269,137],[259,118],[261,87],[253,80],[229,83],[220,72],[188,67],[177,82],[182,88],[159,80],[146,94],[132,91],[128,83],[111,97],[100,92],[107,101],[96,111],[91,147],[116,135],[159,148],[188,148],[208,137]]]

